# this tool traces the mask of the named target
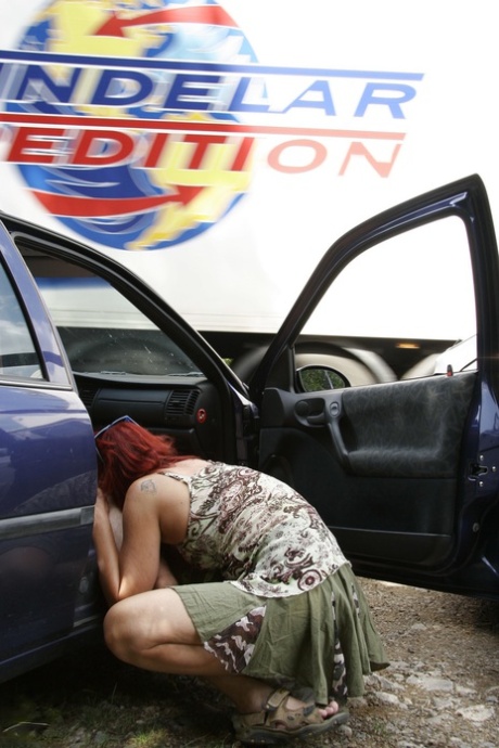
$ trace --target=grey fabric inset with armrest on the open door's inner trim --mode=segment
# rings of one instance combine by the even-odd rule
[[[328,413],[336,451],[354,475],[456,478],[476,375],[338,390]]]

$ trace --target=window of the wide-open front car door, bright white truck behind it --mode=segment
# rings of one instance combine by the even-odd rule
[[[388,351],[397,366],[407,361],[405,371],[395,367],[396,378],[432,375],[444,360],[461,371],[465,340],[470,367],[476,315],[463,222],[448,217],[363,252],[331,284],[304,332],[360,338],[367,349],[376,341],[372,350]]]

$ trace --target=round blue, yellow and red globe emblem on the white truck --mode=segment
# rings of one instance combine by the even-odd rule
[[[256,62],[212,0],[53,0],[18,49],[33,122],[17,163],[50,215],[104,247],[165,249],[246,194],[254,139],[230,111],[231,66]],[[234,68],[235,69],[235,68]],[[238,68],[239,69],[239,68]]]

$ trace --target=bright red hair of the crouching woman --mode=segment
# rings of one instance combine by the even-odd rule
[[[187,460],[169,436],[151,434],[133,422],[118,422],[97,436],[99,486],[123,508],[131,483],[144,475]]]

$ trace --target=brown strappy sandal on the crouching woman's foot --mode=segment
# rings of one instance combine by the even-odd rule
[[[236,739],[248,745],[273,745],[295,737],[318,735],[348,720],[345,709],[324,720],[315,704],[286,709],[284,705],[289,696],[289,691],[278,688],[270,694],[263,711],[236,714],[232,719]]]

